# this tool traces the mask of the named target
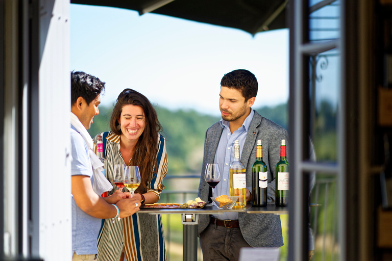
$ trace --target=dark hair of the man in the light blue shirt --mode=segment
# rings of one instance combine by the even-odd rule
[[[83,71],[71,71],[71,106],[79,97],[86,100],[87,105],[105,90],[105,82]]]

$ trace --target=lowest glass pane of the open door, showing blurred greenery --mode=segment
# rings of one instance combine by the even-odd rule
[[[314,174],[313,186],[309,198],[309,227],[313,241],[313,261],[339,260],[338,219],[339,193],[336,176],[325,173]],[[312,185],[312,184],[311,184]],[[309,236],[309,237],[310,237]],[[310,238],[311,239],[311,238]]]

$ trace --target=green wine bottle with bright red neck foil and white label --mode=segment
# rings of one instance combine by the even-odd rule
[[[288,203],[288,161],[286,159],[286,140],[280,146],[280,161],[276,164],[276,206],[287,206]]]

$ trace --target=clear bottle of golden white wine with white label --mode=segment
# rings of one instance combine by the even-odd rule
[[[238,196],[234,207],[247,205],[247,174],[239,158],[239,142],[234,142],[234,161],[230,164],[230,196]]]

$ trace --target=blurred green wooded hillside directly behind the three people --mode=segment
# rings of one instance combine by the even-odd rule
[[[100,114],[95,116],[88,130],[91,137],[104,131],[110,131],[109,120],[113,107],[100,106]],[[168,174],[200,174],[203,161],[204,137],[207,128],[220,117],[205,115],[194,110],[171,111],[156,107],[159,122],[166,138],[166,150],[169,159]],[[255,109],[279,125],[287,126],[287,105]]]

